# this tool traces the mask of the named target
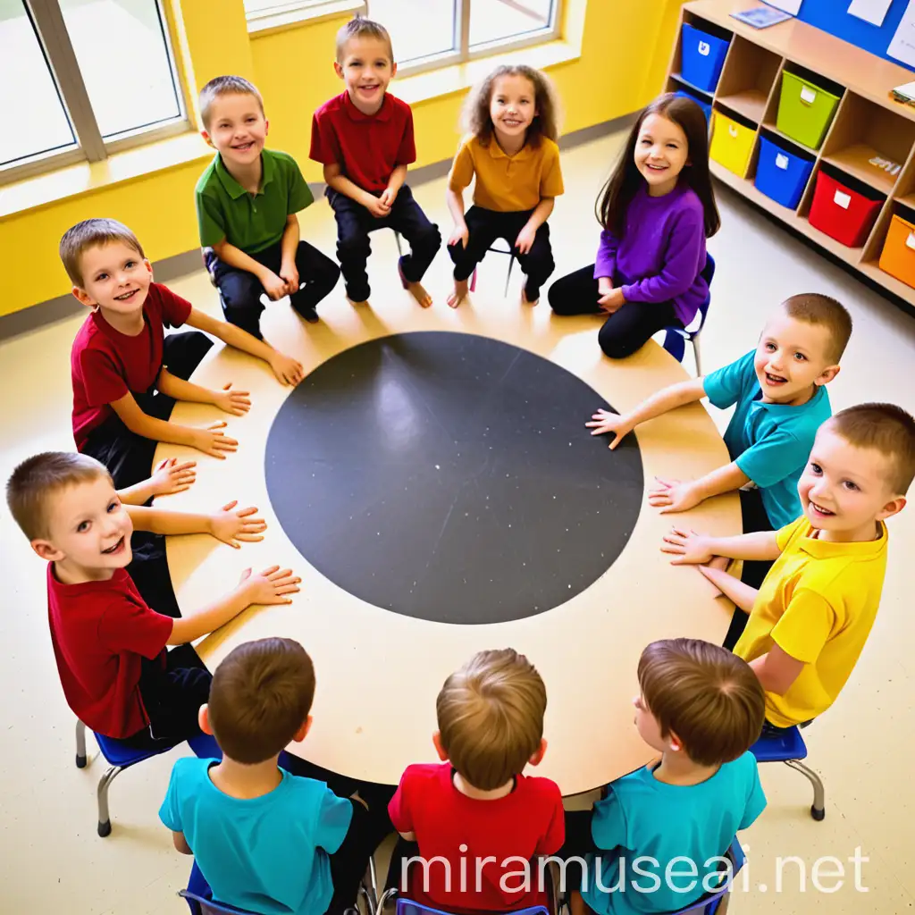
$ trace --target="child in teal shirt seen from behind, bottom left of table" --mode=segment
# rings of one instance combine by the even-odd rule
[[[178,759],[159,818],[195,857],[188,889],[245,911],[316,915],[355,905],[371,830],[359,800],[279,768],[311,727],[315,668],[292,639],[231,651],[213,674],[202,730],[222,759]]]

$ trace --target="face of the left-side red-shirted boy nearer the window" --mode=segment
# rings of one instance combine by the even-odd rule
[[[122,318],[142,313],[153,268],[129,244],[92,245],[81,254],[80,273],[82,285],[73,287],[73,295],[83,305]]]

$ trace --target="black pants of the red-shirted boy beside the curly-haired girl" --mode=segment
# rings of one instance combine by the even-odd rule
[[[404,254],[398,262],[401,273],[410,283],[422,280],[441,247],[442,236],[438,226],[426,218],[410,188],[404,184],[391,211],[380,218],[372,216],[361,203],[338,190],[328,188],[327,195],[337,220],[337,260],[351,302],[364,302],[371,295],[365,266],[371,254],[369,232],[377,229],[393,229],[404,236],[410,253]]]

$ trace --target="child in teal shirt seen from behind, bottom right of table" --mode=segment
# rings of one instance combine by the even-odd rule
[[[581,864],[580,851],[597,849],[573,915],[684,909],[720,886],[737,830],[766,806],[748,752],[765,704],[746,662],[705,641],[655,641],[642,651],[639,687],[635,726],[661,760],[610,782],[593,812],[567,814],[560,854]]]

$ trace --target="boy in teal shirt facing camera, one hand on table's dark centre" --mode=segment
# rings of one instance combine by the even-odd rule
[[[610,442],[615,448],[637,425],[674,407],[703,397],[722,410],[736,405],[725,432],[731,462],[700,479],[661,479],[649,501],[662,513],[687,511],[712,496],[740,490],[744,531],[776,530],[801,514],[798,479],[816,430],[832,415],[824,385],[838,374],[851,332],[852,319],[834,298],[791,296],[763,328],[756,350],[705,378],[652,394],[630,414],[598,410],[587,426],[593,436],[615,434]],[[747,563],[744,581],[759,587],[770,566]],[[735,614],[735,628],[746,621],[741,617]],[[728,648],[739,634],[728,633]]]

